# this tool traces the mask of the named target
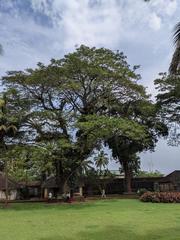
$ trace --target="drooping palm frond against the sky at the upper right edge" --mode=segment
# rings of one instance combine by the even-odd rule
[[[174,28],[173,37],[174,37],[175,51],[169,67],[170,74],[176,74],[180,68],[180,22],[177,23]]]

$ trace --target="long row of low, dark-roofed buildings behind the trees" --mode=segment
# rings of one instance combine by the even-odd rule
[[[111,179],[99,179],[98,182],[105,180],[106,194],[123,194],[125,192],[124,175],[118,171],[113,172],[114,177]],[[6,179],[4,173],[0,172],[0,200],[4,200],[6,190]],[[132,179],[132,191],[137,192],[139,189],[145,188],[149,191],[179,191],[180,192],[180,170],[176,170],[164,177],[136,177]],[[47,199],[49,193],[53,197],[58,197],[58,185],[55,177],[49,177],[42,184],[40,181],[19,182],[16,183],[10,177],[8,178],[8,199]],[[66,192],[71,189],[66,188]],[[77,196],[93,196],[100,195],[101,190],[96,181],[83,177],[76,186],[73,187],[73,192]]]

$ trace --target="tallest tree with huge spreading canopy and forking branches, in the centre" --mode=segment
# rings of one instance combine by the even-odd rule
[[[39,63],[36,69],[12,71],[3,78],[20,119],[19,143],[40,151],[51,146],[49,159],[60,191],[102,143],[114,137],[149,139],[134,110],[137,103],[149,102],[136,69],[118,51],[81,46],[48,66]]]

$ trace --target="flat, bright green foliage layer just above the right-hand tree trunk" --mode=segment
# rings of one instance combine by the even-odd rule
[[[127,118],[88,115],[77,126],[88,136],[88,141],[109,139],[111,136],[126,136],[129,139],[146,141],[145,128]]]

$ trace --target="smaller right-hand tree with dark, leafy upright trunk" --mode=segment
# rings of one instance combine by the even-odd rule
[[[89,142],[102,140],[112,150],[125,173],[125,189],[131,192],[131,178],[140,166],[138,154],[153,151],[158,137],[167,135],[167,127],[159,120],[156,105],[146,99],[113,108],[111,117],[91,116],[79,125]]]

